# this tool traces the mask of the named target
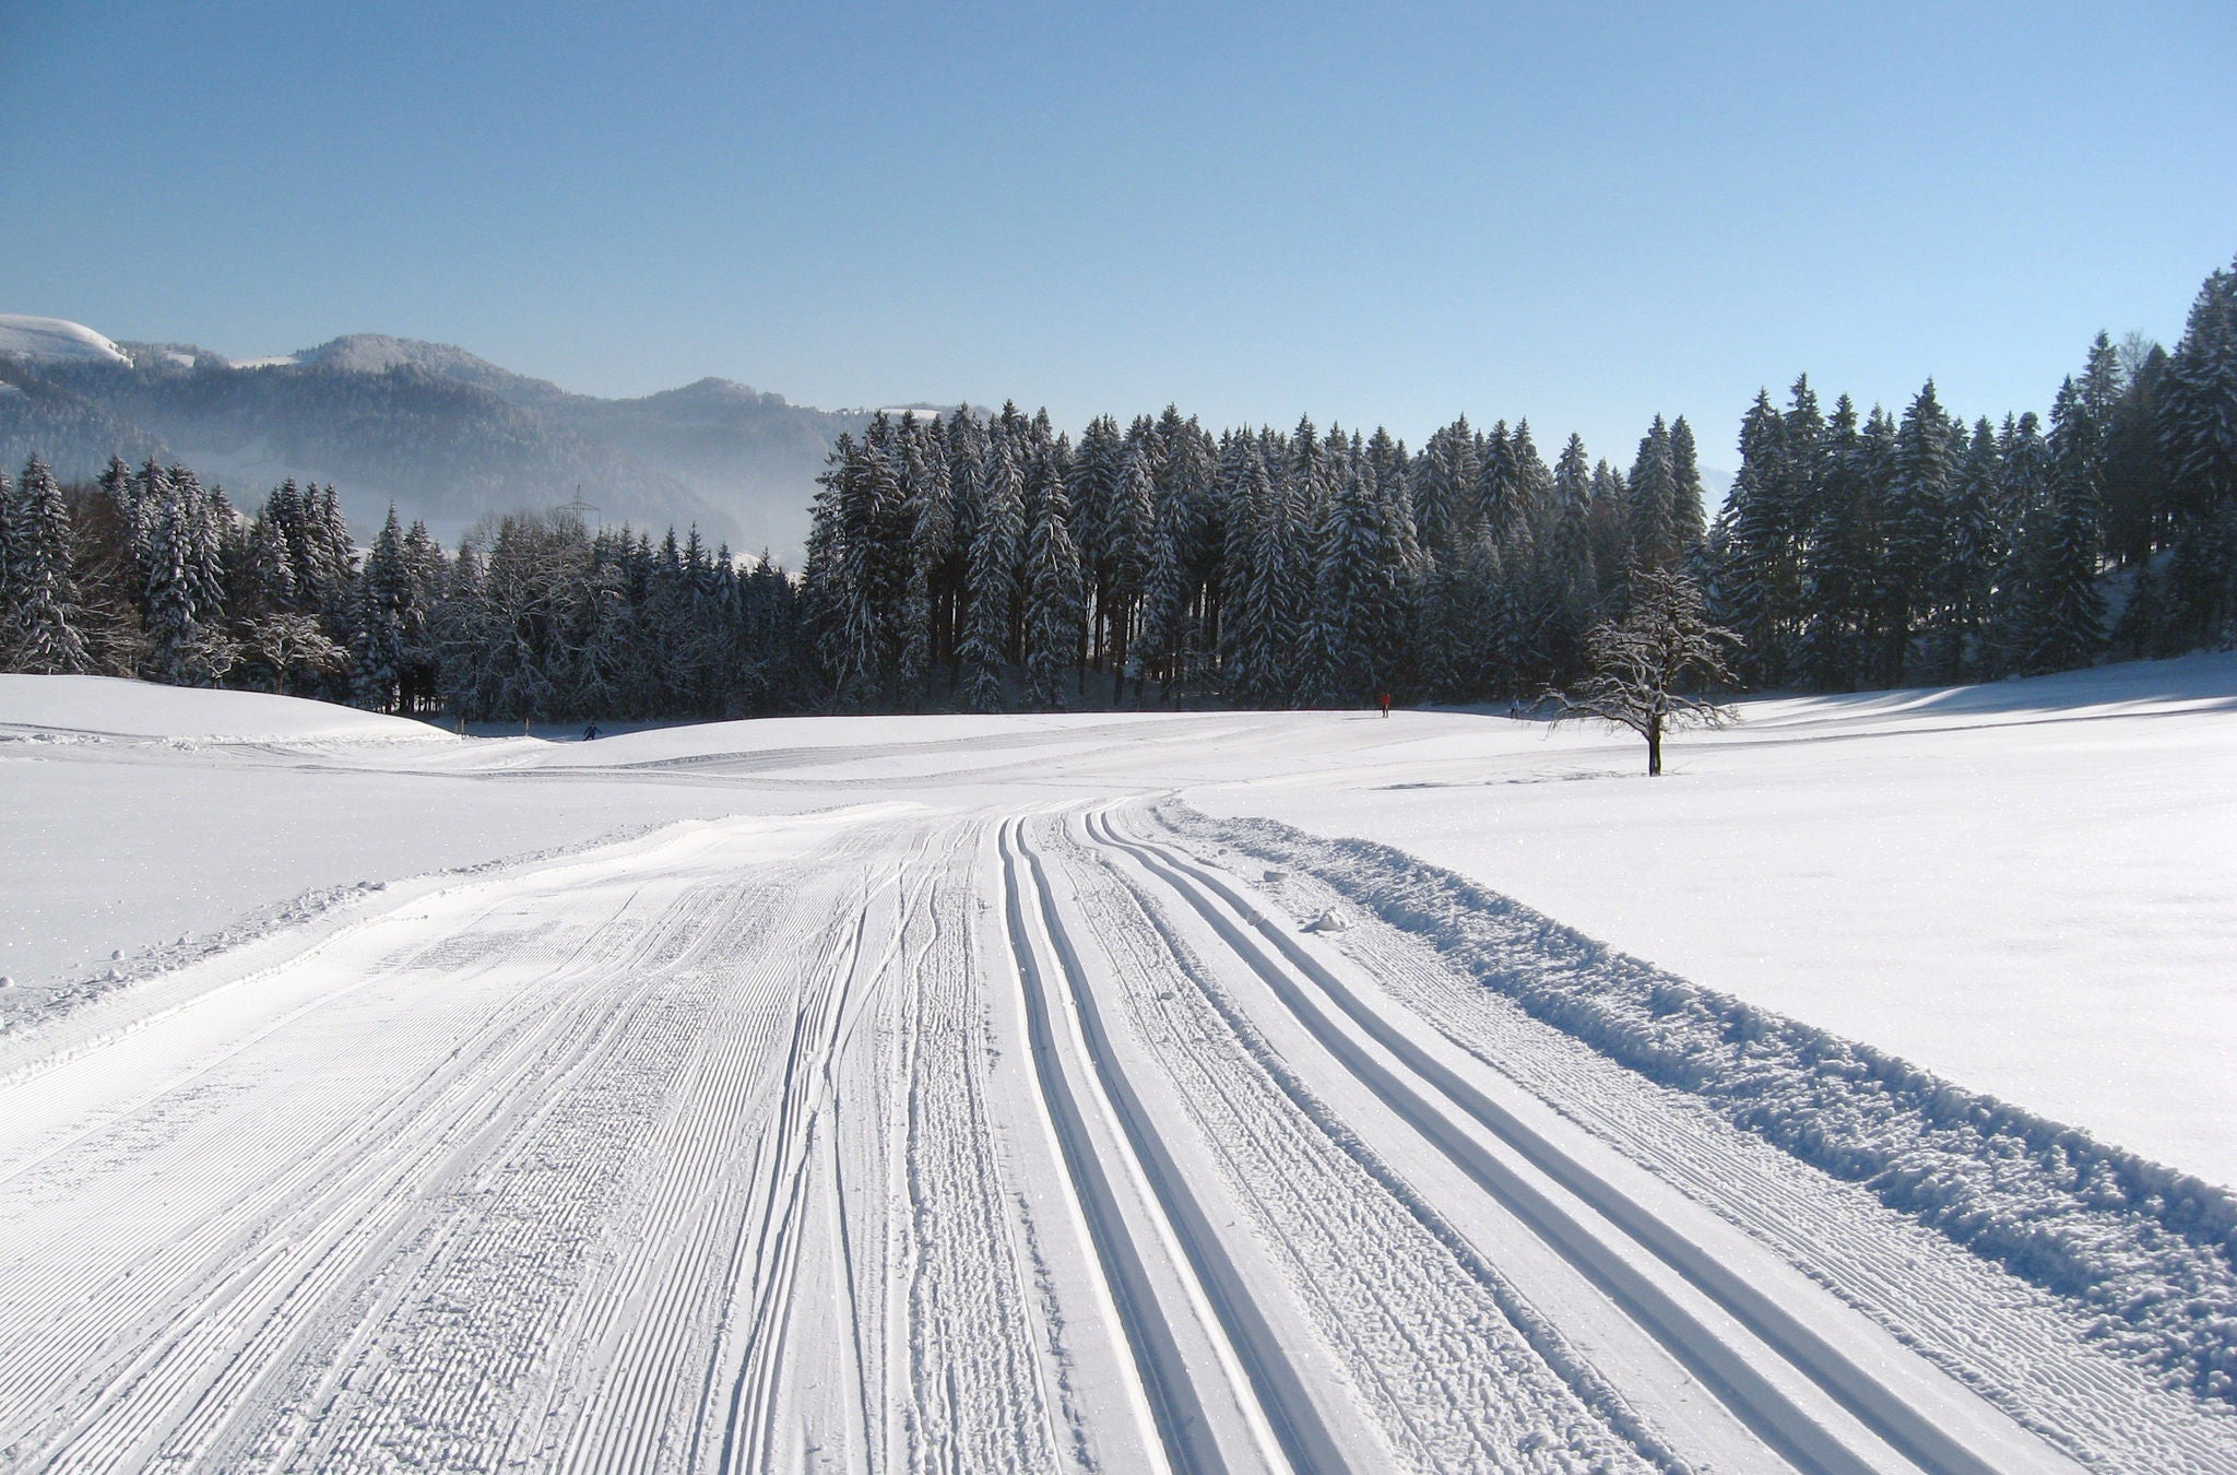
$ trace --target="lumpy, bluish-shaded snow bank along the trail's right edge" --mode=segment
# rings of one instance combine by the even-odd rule
[[[2085,1303],[2107,1341],[2237,1403],[2237,1193],[1687,983],[1403,851],[1179,801],[1157,812],[1318,877],[1535,1018]]]

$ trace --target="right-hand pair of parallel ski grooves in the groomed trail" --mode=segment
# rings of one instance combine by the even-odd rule
[[[1333,1056],[1718,1388],[1765,1444],[1828,1471],[1899,1468],[1895,1455],[1966,1473],[2063,1464],[1863,1318],[1812,1307],[1823,1298],[1807,1280],[1709,1215],[1680,1213],[1676,1195],[1613,1153],[1535,1126],[1535,1101],[1438,1050],[1434,1030],[1347,978],[1338,956],[1273,922],[1230,882],[1172,848],[1123,839],[1101,817],[1089,833],[1141,859],[1210,922]]]

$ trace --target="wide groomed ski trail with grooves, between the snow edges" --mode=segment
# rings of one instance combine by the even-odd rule
[[[1340,877],[1000,761],[0,1034],[0,1468],[2237,1471]]]

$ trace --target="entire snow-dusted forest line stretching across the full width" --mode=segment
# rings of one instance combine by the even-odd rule
[[[253,515],[183,466],[0,475],[0,669],[488,718],[1365,705],[1588,674],[1637,571],[1691,580],[1747,687],[1982,680],[2237,636],[2237,266],[2172,351],[2105,333],[2045,425],[1756,396],[1714,519],[1691,425],[1629,468],[1459,419],[1409,450],[1177,407],[1078,441],[1013,403],[879,414],[819,479],[799,580],[673,528],[483,519],[456,553],[331,486]]]

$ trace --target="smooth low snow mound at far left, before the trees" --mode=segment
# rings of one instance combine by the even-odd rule
[[[349,743],[456,739],[427,723],[264,692],[192,692],[116,676],[0,676],[0,736],[181,743]]]

